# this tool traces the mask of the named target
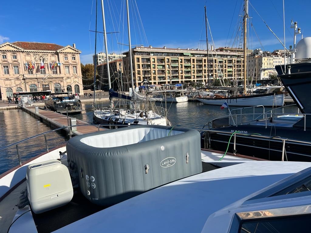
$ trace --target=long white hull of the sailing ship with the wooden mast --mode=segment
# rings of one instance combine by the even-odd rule
[[[238,98],[197,98],[198,101],[204,104],[222,105],[225,102],[228,106],[283,106],[284,94],[263,95],[263,96],[248,96]]]

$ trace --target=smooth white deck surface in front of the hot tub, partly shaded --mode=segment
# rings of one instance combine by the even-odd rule
[[[201,232],[225,206],[301,171],[307,162],[253,161],[172,182],[55,232]]]

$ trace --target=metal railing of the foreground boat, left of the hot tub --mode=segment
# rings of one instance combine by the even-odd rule
[[[86,125],[75,125],[74,127],[80,127],[80,126],[90,126],[90,124],[86,124]],[[108,126],[108,127],[111,127],[112,125],[111,124],[98,124],[98,125],[91,125],[91,126],[96,126],[98,131],[100,131],[100,126]],[[130,126],[130,125],[128,125]],[[44,132],[44,133],[41,133],[41,134],[38,134],[38,135],[35,135],[35,136],[32,136],[32,137],[29,137],[29,138],[26,138],[26,139],[23,139],[21,141],[18,141],[18,142],[15,142],[13,144],[10,144],[8,146],[5,146],[5,147],[2,147],[0,148],[0,152],[3,151],[3,150],[6,150],[8,148],[11,148],[12,146],[16,146],[16,152],[17,152],[17,156],[18,156],[18,160],[19,160],[19,164],[21,166],[21,154],[20,154],[20,151],[19,151],[19,144],[21,143],[24,143],[26,141],[29,141],[31,139],[35,139],[35,138],[38,138],[40,136],[44,136],[44,142],[45,142],[45,147],[46,147],[46,151],[49,152],[49,145],[48,145],[48,140],[46,138],[46,135],[52,133],[52,132],[55,132],[55,131],[58,131],[58,130],[63,130],[63,129],[67,129],[68,128],[68,136],[69,138],[71,138],[71,136],[73,135],[72,133],[72,126],[64,126],[64,127],[60,127],[60,128],[57,128],[57,129],[54,129],[54,130],[50,130],[50,131],[47,131],[47,132]],[[39,142],[39,140],[38,140]]]

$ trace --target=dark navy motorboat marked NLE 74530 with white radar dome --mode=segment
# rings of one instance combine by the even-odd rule
[[[214,119],[204,127],[218,131],[203,133],[205,147],[228,146],[230,152],[234,150],[268,160],[311,161],[311,105],[305,91],[311,84],[311,37],[301,39],[296,50],[295,62],[278,65],[276,71],[298,110],[289,112],[276,108],[263,110],[261,114],[255,114],[255,110],[244,114],[242,111],[246,108],[236,109],[236,114]],[[234,132],[237,135],[234,142],[230,142]]]

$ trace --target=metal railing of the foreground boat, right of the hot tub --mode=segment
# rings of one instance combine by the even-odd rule
[[[233,135],[233,143],[230,143],[230,141],[228,143],[233,144],[233,151],[235,154],[236,151],[236,137],[254,137],[254,138],[258,138],[261,140],[269,140],[269,141],[281,141],[282,142],[282,158],[281,161],[284,161],[284,157],[285,157],[285,143],[299,143],[302,145],[309,145],[311,146],[311,142],[310,141],[303,141],[303,140],[297,140],[297,139],[290,139],[290,138],[283,138],[283,137],[279,137],[279,136],[266,136],[266,135],[258,135],[258,134],[247,134],[247,133],[242,133],[239,131],[234,131],[234,132],[229,132],[229,131],[220,131],[220,130],[212,130],[212,129],[195,129],[198,130],[199,132],[213,132],[213,133],[217,133],[217,134],[223,134],[223,135]]]

